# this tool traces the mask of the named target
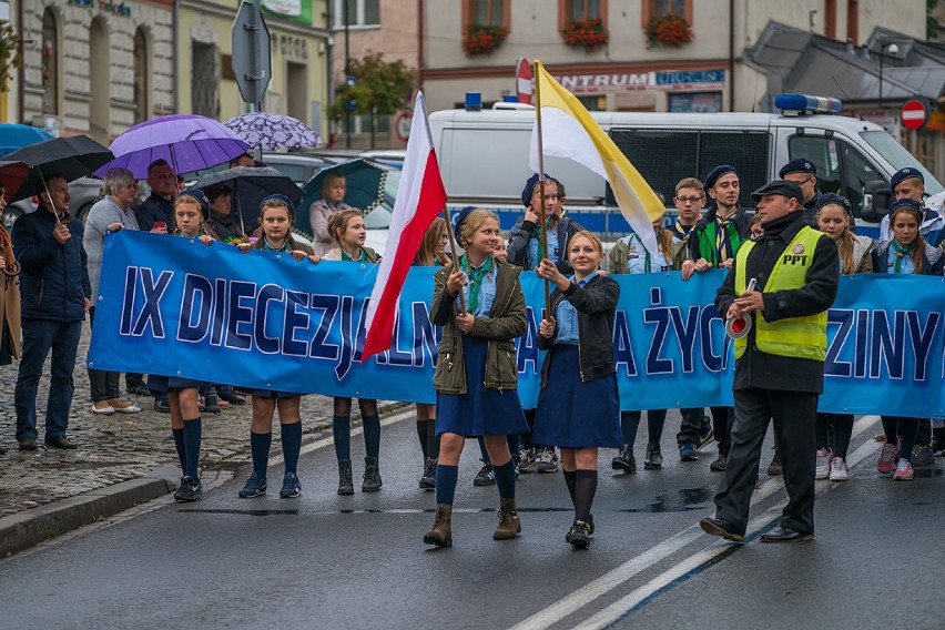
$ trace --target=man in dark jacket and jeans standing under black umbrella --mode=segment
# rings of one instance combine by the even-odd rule
[[[13,250],[20,270],[23,358],[17,376],[17,441],[37,448],[37,388],[52,350],[45,445],[75,448],[65,437],[72,407],[72,370],[92,285],[82,246],[82,222],[70,220],[69,184],[45,175],[37,186],[39,207],[13,224]]]

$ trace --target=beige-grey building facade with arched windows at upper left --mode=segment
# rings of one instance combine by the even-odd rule
[[[9,120],[108,144],[173,106],[174,0],[17,0],[10,17],[24,41]]]

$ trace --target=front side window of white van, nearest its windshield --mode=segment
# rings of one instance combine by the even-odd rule
[[[805,158],[817,169],[817,190],[850,200],[854,215],[863,206],[866,182],[885,179],[853,145],[817,135],[794,135],[788,141],[791,159]]]

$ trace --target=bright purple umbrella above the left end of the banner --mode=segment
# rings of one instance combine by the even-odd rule
[[[99,169],[96,175],[112,166],[124,166],[143,180],[155,160],[166,160],[177,174],[192,173],[227,162],[245,153],[248,145],[213,119],[174,114],[132,126],[115,138],[109,149],[116,158]]]

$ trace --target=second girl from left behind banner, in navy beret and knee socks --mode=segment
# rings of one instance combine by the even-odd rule
[[[262,235],[254,243],[243,243],[240,251],[262,250],[276,254],[288,254],[295,262],[307,260],[318,262],[312,247],[296,243],[291,235],[295,219],[295,207],[283,195],[270,195],[260,204],[260,226]],[[253,421],[250,425],[250,449],[253,454],[253,472],[240,498],[262,497],[266,494],[266,468],[270,460],[270,447],[273,443],[273,415],[278,408],[278,421],[282,430],[282,453],[285,470],[278,496],[288,499],[302,494],[302,484],[296,472],[298,455],[302,451],[302,415],[298,405],[301,394],[270,389],[248,389],[253,399]]]

